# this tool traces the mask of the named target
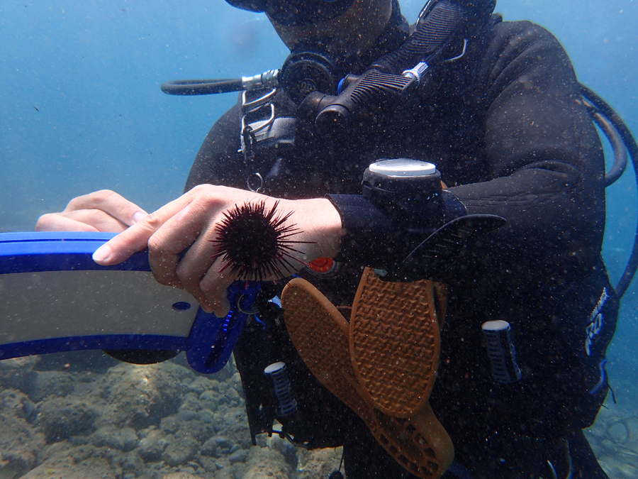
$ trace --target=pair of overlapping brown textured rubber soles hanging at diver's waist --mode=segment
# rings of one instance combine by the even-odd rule
[[[423,479],[438,478],[454,458],[427,402],[440,343],[433,294],[431,282],[381,282],[366,269],[350,323],[306,280],[281,295],[286,328],[313,375]]]

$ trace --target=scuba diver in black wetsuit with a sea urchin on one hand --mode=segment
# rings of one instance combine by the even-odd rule
[[[344,446],[347,478],[606,478],[583,434],[618,312],[605,162],[558,40],[492,0],[427,1],[412,27],[397,0],[227,1],[291,55],[240,81],[184,195],[146,216],[96,192],[37,229],[122,232],[97,263],[149,248],[220,317],[233,280],[276,280],[283,314],[234,351],[253,442]]]

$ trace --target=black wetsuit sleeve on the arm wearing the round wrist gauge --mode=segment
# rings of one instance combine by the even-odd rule
[[[508,223],[469,244],[436,279],[457,282],[495,270],[503,281],[584,274],[602,244],[604,158],[573,68],[558,40],[532,23],[500,23],[492,35],[478,59],[475,93],[484,122],[484,149],[476,158],[486,174],[449,192],[467,214],[498,215]],[[385,251],[386,262],[400,260],[388,255],[384,242],[391,238],[388,225],[401,225],[386,219],[381,227],[384,221],[359,205],[362,217],[375,219],[362,229],[347,200],[331,199],[342,211],[344,250],[375,260]]]

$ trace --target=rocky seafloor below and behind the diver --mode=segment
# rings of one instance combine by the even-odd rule
[[[278,437],[252,446],[233,363],[119,363],[101,352],[0,361],[0,479],[324,479],[341,451]],[[636,409],[611,404],[587,432],[612,479],[638,477]]]

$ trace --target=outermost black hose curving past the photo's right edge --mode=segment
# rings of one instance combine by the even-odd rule
[[[600,98],[598,94],[595,94],[595,92],[592,92],[591,89],[583,84],[581,84],[581,94],[583,97],[591,101],[598,111],[600,111],[600,113],[612,123],[614,128],[616,128],[617,132],[620,134],[622,143],[625,143],[625,147],[629,153],[629,158],[631,158],[632,165],[634,165],[634,175],[636,175],[636,184],[638,185],[638,145],[636,144],[636,140],[634,139],[632,132],[629,131],[629,128],[627,128],[625,121],[622,121],[622,118],[620,118],[620,116],[605,100]],[[632,254],[629,256],[629,260],[627,261],[625,272],[622,273],[620,281],[615,287],[615,292],[619,299],[623,296],[623,294],[625,294],[625,292],[627,292],[629,284],[631,284],[634,279],[636,270],[638,270],[638,227],[636,229],[636,235],[634,236]]]

